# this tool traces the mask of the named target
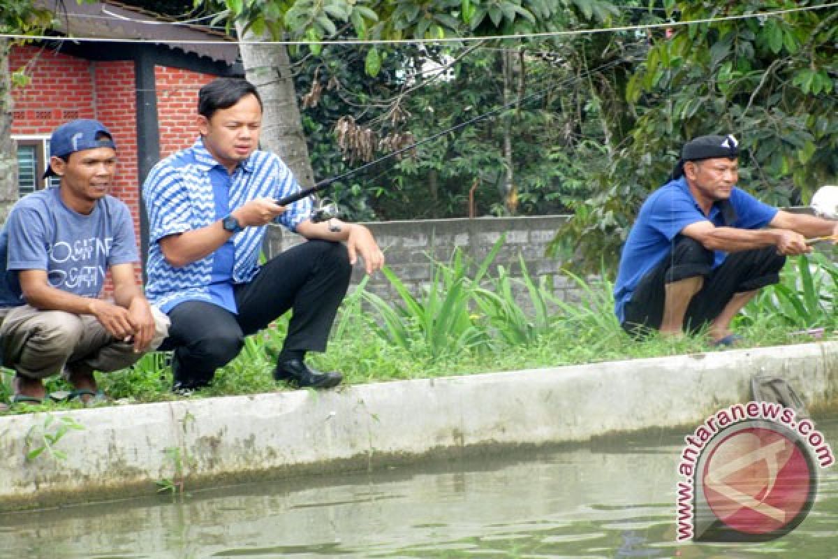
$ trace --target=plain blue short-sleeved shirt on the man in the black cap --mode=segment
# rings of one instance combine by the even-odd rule
[[[646,199],[623,246],[614,283],[614,312],[620,323],[625,319],[625,305],[631,300],[634,288],[646,272],[670,254],[675,236],[687,225],[709,220],[716,227],[761,229],[778,212],[735,187],[729,202],[716,202],[710,208],[710,215],[704,215],[684,177],[670,181]],[[713,268],[719,267],[726,256],[727,252],[716,251]]]

